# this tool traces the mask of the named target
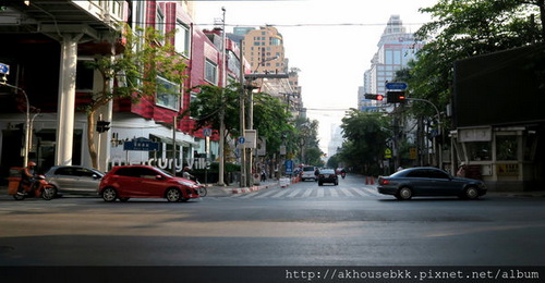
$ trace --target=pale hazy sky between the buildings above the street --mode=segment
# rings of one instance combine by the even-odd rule
[[[233,26],[274,25],[282,34],[290,67],[299,67],[307,116],[320,124],[320,148],[327,152],[330,125],[342,109],[358,107],[358,87],[371,66],[390,15],[401,16],[410,32],[429,21],[417,10],[437,0],[196,1],[195,22],[205,28],[226,9]],[[334,110],[327,110],[334,109]]]

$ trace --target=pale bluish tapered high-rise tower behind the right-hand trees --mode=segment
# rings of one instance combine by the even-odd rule
[[[414,35],[407,32],[399,15],[391,15],[377,47],[378,50],[371,60],[371,69],[364,74],[364,93],[360,91],[359,95],[360,110],[382,104],[364,99],[363,95],[386,95],[386,82],[391,82],[396,71],[405,67],[409,61],[415,59],[415,53],[423,47],[423,42],[415,41]]]

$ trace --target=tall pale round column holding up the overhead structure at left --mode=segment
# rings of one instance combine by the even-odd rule
[[[61,41],[56,165],[72,164],[77,41],[81,37],[81,35],[64,34]]]

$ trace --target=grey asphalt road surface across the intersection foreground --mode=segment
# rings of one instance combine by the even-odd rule
[[[2,266],[545,266],[545,198],[382,196],[362,179],[169,204],[0,198]]]

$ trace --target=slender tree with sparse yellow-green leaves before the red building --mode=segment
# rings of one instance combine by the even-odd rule
[[[131,98],[138,102],[143,98],[154,98],[157,91],[170,95],[181,95],[177,88],[165,87],[158,83],[162,77],[175,85],[181,85],[186,67],[181,57],[175,56],[171,45],[172,33],[161,36],[154,28],[137,28],[143,37],[136,36],[132,28],[124,26],[124,42],[117,42],[121,48],[119,54],[100,54],[94,61],[87,62],[87,67],[97,70],[102,78],[99,93],[89,97],[85,107],[87,113],[88,151],[94,168],[98,168],[97,149],[94,142],[97,111],[118,98]],[[164,44],[158,44],[164,42]],[[112,85],[113,81],[124,81],[126,84]]]

